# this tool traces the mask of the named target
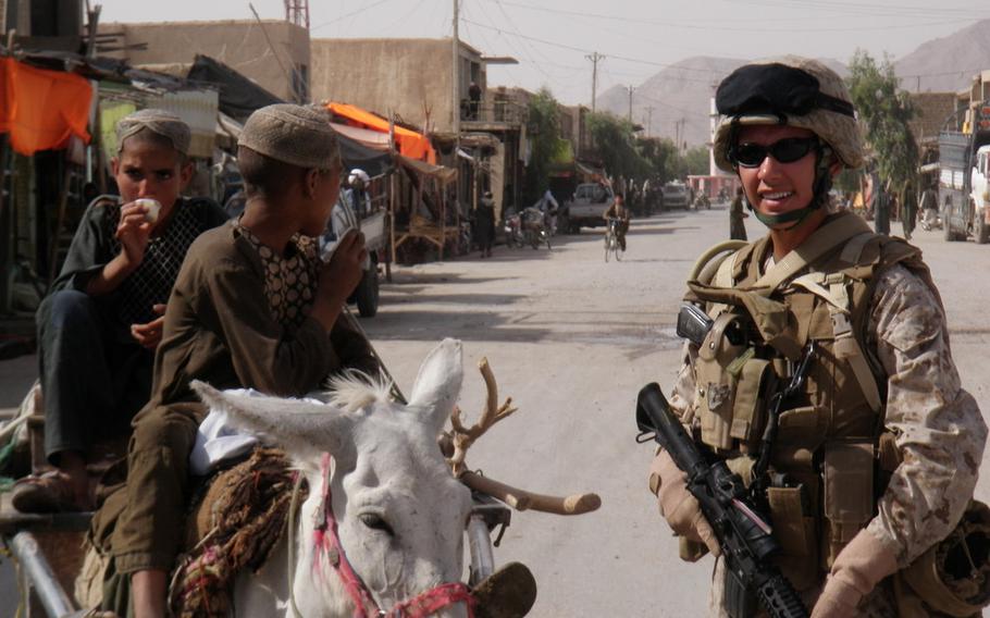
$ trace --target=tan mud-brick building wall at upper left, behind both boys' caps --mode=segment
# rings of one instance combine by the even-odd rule
[[[107,23],[100,24],[99,29],[101,34],[120,33],[123,45],[148,45],[146,50],[108,53],[133,65],[191,64],[196,54],[201,53],[223,62],[288,101],[297,100],[293,71],[297,72],[296,79],[302,75],[308,81],[311,73],[309,30],[280,20],[262,20],[261,24],[255,20]],[[307,91],[306,88],[304,91]],[[310,100],[309,96],[304,99],[302,102]]]

